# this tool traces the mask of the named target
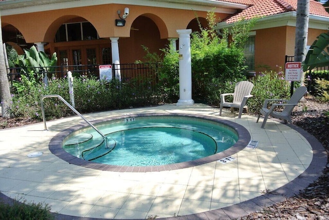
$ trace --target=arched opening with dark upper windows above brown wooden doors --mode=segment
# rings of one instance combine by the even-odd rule
[[[97,65],[112,63],[110,41],[100,38],[93,24],[83,17],[70,15],[58,18],[58,21],[53,23],[59,27],[56,33],[52,33],[53,42],[45,46],[49,54],[57,53],[58,65],[64,68],[88,65],[88,71],[95,69],[96,72]],[[50,32],[47,31],[47,35]]]

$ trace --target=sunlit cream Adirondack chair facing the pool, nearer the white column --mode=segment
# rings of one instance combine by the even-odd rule
[[[252,88],[253,84],[249,81],[241,81],[235,84],[234,93],[221,94],[220,115],[222,115],[223,107],[230,107],[231,112],[233,112],[233,108],[239,108],[239,118],[241,118],[244,108],[248,112],[248,106],[246,106],[246,103],[247,99],[253,96],[250,94]],[[227,95],[233,96],[232,103],[225,102],[225,96]]]

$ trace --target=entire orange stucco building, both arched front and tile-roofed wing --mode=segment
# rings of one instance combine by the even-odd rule
[[[329,26],[322,5],[310,2],[307,45]],[[297,0],[0,1],[3,42],[19,53],[33,44],[57,52],[59,65],[134,63],[145,55],[142,45],[160,53],[177,44],[176,30],[198,30],[196,16],[206,26],[212,9],[222,21],[218,30],[242,17],[261,17],[246,50],[251,70],[283,66],[285,55],[294,55]]]

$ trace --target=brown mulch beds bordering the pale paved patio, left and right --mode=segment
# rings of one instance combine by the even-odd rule
[[[319,103],[308,95],[294,109],[291,119],[293,124],[314,135],[329,153],[329,117],[324,115],[326,111],[329,111],[328,103]],[[0,129],[36,122],[39,121],[0,117]],[[329,166],[299,195],[238,219],[329,219]]]

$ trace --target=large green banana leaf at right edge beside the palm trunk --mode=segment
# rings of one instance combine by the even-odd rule
[[[329,66],[329,32],[320,34],[310,46],[305,61],[303,71],[312,70],[315,67]]]

